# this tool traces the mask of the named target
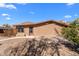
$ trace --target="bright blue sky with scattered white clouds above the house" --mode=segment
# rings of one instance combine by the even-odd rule
[[[72,21],[79,17],[75,3],[1,3],[0,24],[40,22],[46,20]]]

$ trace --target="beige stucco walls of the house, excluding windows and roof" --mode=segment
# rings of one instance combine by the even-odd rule
[[[34,36],[47,36],[47,37],[52,37],[52,36],[57,36],[60,35],[61,33],[61,28],[62,26],[56,25],[56,24],[47,24],[47,25],[42,25],[38,27],[33,28],[33,34]],[[18,33],[19,36],[28,36],[29,35],[29,27],[24,28],[24,33]]]

